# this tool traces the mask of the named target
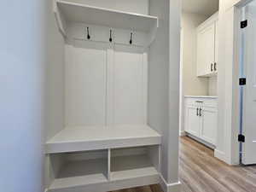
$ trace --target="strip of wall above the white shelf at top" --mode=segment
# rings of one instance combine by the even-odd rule
[[[85,3],[107,9],[117,9],[131,13],[148,15],[148,0],[65,0],[73,3]]]

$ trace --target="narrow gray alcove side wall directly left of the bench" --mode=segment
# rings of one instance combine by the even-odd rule
[[[64,39],[58,31],[52,0],[45,3],[45,137],[49,139],[64,128]]]

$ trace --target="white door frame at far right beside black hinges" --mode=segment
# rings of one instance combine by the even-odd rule
[[[226,136],[230,136],[230,139],[225,142],[225,157],[224,161],[230,165],[241,164],[241,143],[238,142],[238,135],[242,133],[242,91],[241,86],[238,84],[239,78],[242,77],[241,73],[241,28],[240,22],[243,19],[241,16],[242,8],[247,3],[253,0],[241,0],[230,9],[233,9],[233,13],[230,15],[230,20],[233,21],[233,42],[227,44],[226,49],[230,49],[232,57],[230,57],[230,69],[232,71],[231,77],[228,78],[230,81],[232,96],[230,97],[230,106],[225,108],[227,111],[230,110],[230,129],[226,132]],[[228,11],[228,10],[227,10]],[[232,60],[231,60],[232,58]],[[226,69],[226,68],[225,68]],[[231,79],[230,79],[231,78]],[[230,91],[230,90],[228,90]]]

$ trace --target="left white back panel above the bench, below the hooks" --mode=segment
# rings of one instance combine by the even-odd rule
[[[82,41],[66,45],[67,127],[106,125],[107,49],[97,46]]]

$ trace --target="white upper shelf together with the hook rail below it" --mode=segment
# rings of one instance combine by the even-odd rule
[[[126,36],[129,38],[129,41],[126,41],[127,44],[133,44],[132,39],[136,38],[134,36],[137,35],[141,39],[143,36],[144,39],[144,42],[141,41],[140,45],[147,47],[153,42],[158,28],[158,18],[155,16],[93,7],[65,0],[54,0],[54,13],[60,32],[65,38],[68,38],[69,26],[84,24],[84,33],[93,33],[93,30],[99,29],[102,29],[102,32],[97,33],[108,33],[108,36],[105,35],[109,37],[106,38],[106,42],[111,39],[111,43],[123,44],[122,41],[119,41],[119,37]],[[90,26],[90,29],[86,26]],[[123,34],[117,34],[120,32]],[[126,34],[124,35],[124,33]],[[88,39],[94,40],[93,38]],[[101,38],[100,41],[102,41]]]

